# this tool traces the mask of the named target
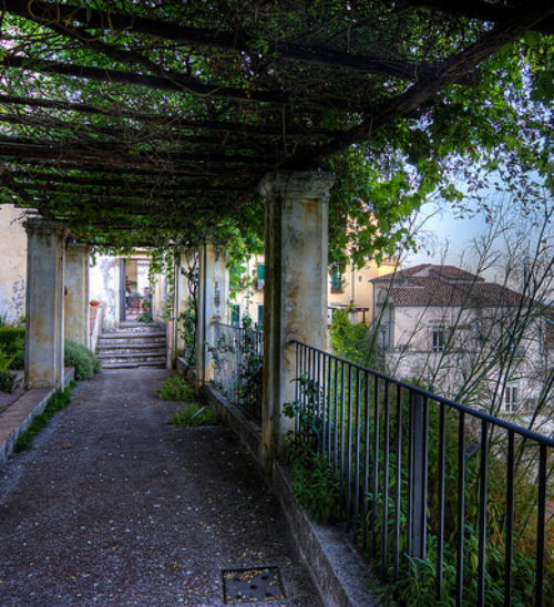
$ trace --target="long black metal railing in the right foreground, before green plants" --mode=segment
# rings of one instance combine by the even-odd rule
[[[441,605],[552,604],[554,441],[295,343],[297,442],[325,454],[381,582],[418,578]]]

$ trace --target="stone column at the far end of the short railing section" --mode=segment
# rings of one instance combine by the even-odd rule
[[[201,246],[198,258],[198,308],[196,319],[196,389],[214,379],[206,342],[214,344],[214,323],[227,318],[229,270],[227,249],[214,243]]]

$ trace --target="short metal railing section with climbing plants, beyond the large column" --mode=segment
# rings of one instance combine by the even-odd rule
[[[215,343],[211,351],[216,384],[233,404],[261,423],[264,333],[222,322],[216,322],[214,329]]]

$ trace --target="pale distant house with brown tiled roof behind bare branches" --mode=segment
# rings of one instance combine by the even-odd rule
[[[396,377],[494,413],[550,399],[550,307],[454,266],[423,264],[371,282],[375,330]]]

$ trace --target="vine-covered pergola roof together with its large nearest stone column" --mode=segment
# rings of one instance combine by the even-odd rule
[[[552,0],[0,8],[1,203],[63,223],[61,240],[153,246],[226,218],[261,224],[265,198],[268,452],[287,340],[324,339],[334,158],[356,150],[378,162],[389,140],[455,122],[460,91],[486,105],[497,53],[527,31],[554,33]],[[52,259],[42,274],[59,271]]]

